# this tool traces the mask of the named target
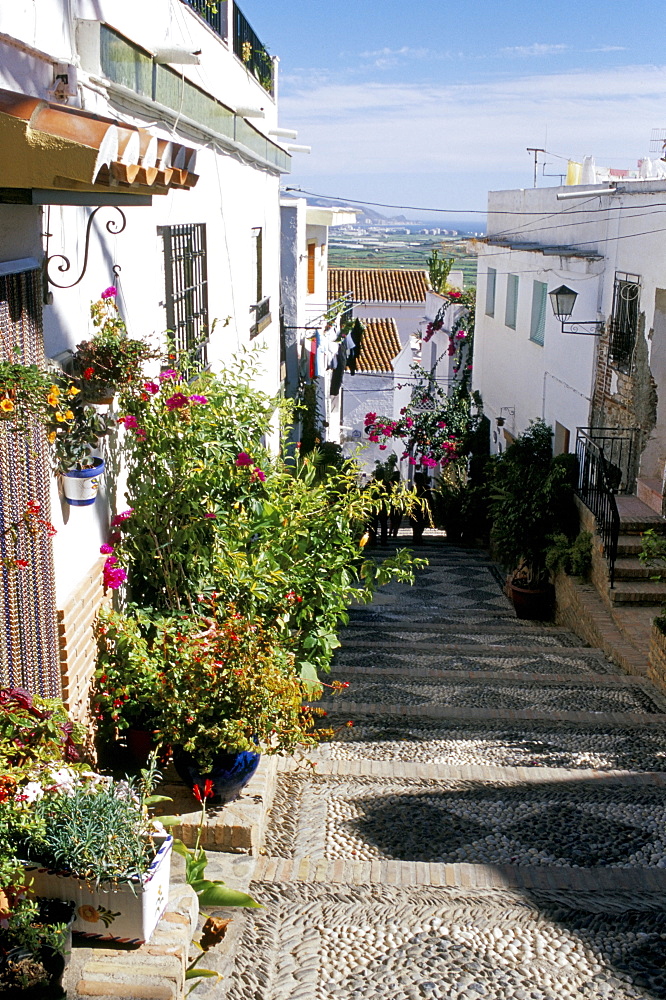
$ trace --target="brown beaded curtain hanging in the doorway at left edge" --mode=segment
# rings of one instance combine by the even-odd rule
[[[42,276],[0,275],[0,361],[44,364]],[[38,517],[50,520],[51,467],[46,432],[0,421],[0,685],[60,694],[53,551]]]

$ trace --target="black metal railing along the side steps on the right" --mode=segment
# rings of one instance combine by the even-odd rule
[[[613,587],[620,536],[620,514],[604,449],[583,427],[578,428],[576,435],[576,457],[578,458],[576,493],[596,519],[597,531],[601,536],[608,562],[610,585]]]

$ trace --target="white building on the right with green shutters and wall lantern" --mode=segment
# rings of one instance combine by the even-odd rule
[[[488,235],[477,244],[474,356],[494,450],[535,417],[553,427],[556,451],[573,451],[577,428],[592,428],[622,487],[635,485],[659,511],[665,193],[660,180],[491,193]],[[572,332],[548,298],[561,285],[577,293],[564,325]]]

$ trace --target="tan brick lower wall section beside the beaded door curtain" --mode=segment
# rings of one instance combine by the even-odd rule
[[[103,559],[98,559],[58,611],[62,697],[78,722],[88,719],[88,698],[95,673],[93,624],[102,604],[110,603],[102,583]]]

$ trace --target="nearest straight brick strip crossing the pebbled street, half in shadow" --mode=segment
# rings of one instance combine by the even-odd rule
[[[473,865],[427,861],[328,861],[326,858],[261,857],[258,882],[323,882],[346,885],[458,886],[619,892],[639,896],[666,890],[664,868],[565,868],[555,865]]]

